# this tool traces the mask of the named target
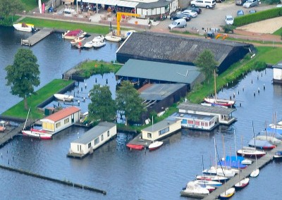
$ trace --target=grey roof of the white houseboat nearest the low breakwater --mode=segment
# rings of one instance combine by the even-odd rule
[[[99,137],[103,132],[110,130],[114,126],[116,126],[115,123],[108,123],[108,122],[99,123],[97,126],[92,127],[92,129],[85,132],[85,134],[82,135],[82,137],[75,139],[75,141],[73,141],[72,143],[88,144],[93,139]]]

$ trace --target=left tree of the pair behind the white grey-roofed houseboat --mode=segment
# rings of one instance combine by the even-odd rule
[[[109,86],[94,85],[90,90],[90,99],[90,120],[112,121],[116,118],[116,104],[114,99],[111,99]]]

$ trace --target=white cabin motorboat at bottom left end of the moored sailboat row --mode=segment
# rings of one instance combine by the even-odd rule
[[[209,190],[197,185],[195,182],[188,182],[187,186],[181,192],[182,196],[191,196],[197,198],[204,198],[209,194]]]

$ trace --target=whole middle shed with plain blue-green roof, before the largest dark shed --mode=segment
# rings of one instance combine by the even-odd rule
[[[129,80],[139,86],[147,83],[184,83],[190,90],[204,80],[204,75],[192,65],[129,59],[116,73],[116,79]]]

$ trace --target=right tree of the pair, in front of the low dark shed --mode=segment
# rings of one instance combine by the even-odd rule
[[[142,101],[144,100],[130,82],[121,83],[121,88],[116,91],[116,105],[119,111],[125,112],[125,125],[128,125],[128,120],[140,120],[145,111]]]

